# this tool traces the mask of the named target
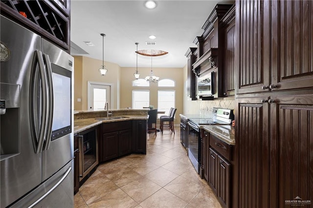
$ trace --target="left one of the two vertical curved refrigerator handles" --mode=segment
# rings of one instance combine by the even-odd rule
[[[41,84],[41,90],[42,90],[41,126],[40,126],[39,137],[38,137],[38,142],[36,145],[35,152],[41,153],[43,146],[44,146],[44,140],[45,140],[45,135],[46,135],[46,123],[47,123],[47,78],[46,78],[46,73],[45,73],[42,52],[39,50],[36,50],[35,53],[36,53],[36,58],[37,58],[38,66],[39,66],[40,78],[42,81],[42,84]]]

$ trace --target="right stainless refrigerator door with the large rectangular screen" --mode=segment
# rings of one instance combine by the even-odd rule
[[[73,159],[73,57],[42,39],[46,68],[52,71],[52,139],[44,146],[43,180]],[[50,62],[50,63],[48,63]]]

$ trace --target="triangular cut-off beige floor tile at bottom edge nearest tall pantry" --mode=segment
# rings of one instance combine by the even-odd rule
[[[189,203],[188,208],[222,208],[210,187],[204,187]]]

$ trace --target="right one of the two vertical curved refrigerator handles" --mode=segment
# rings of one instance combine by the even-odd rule
[[[45,136],[45,144],[44,150],[49,148],[51,142],[51,132],[52,132],[52,121],[53,121],[53,82],[52,82],[52,68],[51,62],[49,59],[49,55],[44,54],[44,62],[46,68],[46,75],[47,75],[47,84],[48,84],[48,123],[46,125],[46,136]]]

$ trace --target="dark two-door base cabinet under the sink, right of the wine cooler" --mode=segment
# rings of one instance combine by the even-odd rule
[[[132,152],[132,121],[102,124],[102,133],[99,142],[100,162]]]

